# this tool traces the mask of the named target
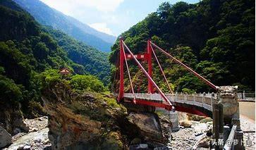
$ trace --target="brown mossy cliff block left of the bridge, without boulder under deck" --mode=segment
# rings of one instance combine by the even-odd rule
[[[126,110],[113,99],[92,92],[78,94],[63,84],[45,91],[42,99],[50,115],[53,149],[126,147],[117,123]]]

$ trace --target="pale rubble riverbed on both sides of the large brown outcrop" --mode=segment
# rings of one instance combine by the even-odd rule
[[[207,137],[207,127],[210,127],[212,122],[209,121],[205,123],[205,119],[201,121],[188,120],[186,119],[189,118],[188,116],[190,115],[181,113],[179,115],[179,119],[181,119],[179,122],[180,129],[176,132],[170,132],[170,121],[167,120],[164,115],[160,115],[159,120],[163,135],[164,137],[169,138],[169,142],[166,146],[169,149],[179,149],[181,147],[184,149],[192,149],[193,147],[195,148],[195,146],[201,147],[200,149],[208,149],[209,137]],[[47,116],[35,119],[25,119],[24,123],[28,125],[29,132],[20,132],[18,135],[13,136],[13,144],[6,149],[51,149],[51,142],[48,137],[49,127]],[[244,118],[241,125],[243,125],[243,130],[252,130],[252,128],[255,127],[255,124]],[[248,138],[255,139],[255,135],[246,135],[244,140]],[[137,147],[143,146],[140,138],[134,138],[130,144],[137,145]],[[255,142],[252,143],[252,146],[247,147],[247,149],[254,149],[253,147],[255,147]]]

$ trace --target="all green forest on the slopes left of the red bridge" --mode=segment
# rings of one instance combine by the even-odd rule
[[[0,1],[0,24],[1,110],[19,108],[21,104],[25,118],[43,114],[41,89],[63,78],[78,91],[106,90],[97,78],[108,82],[108,62],[101,61],[106,54],[97,53],[59,31],[42,27],[10,0]],[[57,41],[58,37],[62,41]],[[83,61],[74,63],[75,56]],[[98,66],[95,70],[94,65]],[[69,68],[73,75],[63,77],[59,73],[63,67]]]

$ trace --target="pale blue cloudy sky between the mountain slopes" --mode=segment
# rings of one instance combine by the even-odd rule
[[[166,0],[40,0],[109,35],[118,36]],[[175,4],[178,0],[169,1]],[[199,0],[183,0],[194,4]]]

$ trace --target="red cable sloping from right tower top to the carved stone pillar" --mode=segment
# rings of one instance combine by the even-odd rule
[[[209,85],[210,87],[212,87],[213,89],[217,90],[217,86],[215,86],[214,84],[212,84],[212,82],[209,82],[207,79],[205,79],[205,77],[202,77],[201,75],[199,75],[198,73],[196,73],[194,70],[192,70],[191,68],[189,68],[187,65],[185,65],[184,63],[182,63],[181,61],[178,61],[178,59],[176,59],[175,57],[171,56],[171,54],[167,53],[166,51],[164,51],[163,49],[161,49],[159,46],[157,46],[156,44],[150,42],[150,44],[152,44],[152,46],[154,46],[155,48],[159,49],[159,51],[161,51],[162,53],[166,54],[166,56],[171,57],[174,61],[176,61],[176,63],[182,65],[184,68],[186,68],[187,70],[189,70],[191,73],[193,73],[196,77],[200,78],[200,80],[202,80],[203,82],[205,82],[207,85]]]

